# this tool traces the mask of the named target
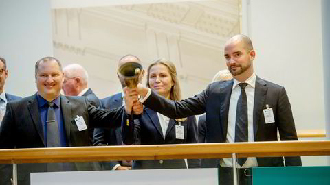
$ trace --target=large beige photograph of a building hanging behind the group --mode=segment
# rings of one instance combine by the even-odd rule
[[[184,97],[190,97],[227,68],[223,45],[240,32],[239,12],[239,0],[54,9],[54,56],[64,66],[82,64],[100,98],[120,92],[116,71],[122,56],[138,56],[145,69],[166,58],[177,67]]]

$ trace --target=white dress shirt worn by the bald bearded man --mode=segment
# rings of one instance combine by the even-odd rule
[[[228,112],[228,127],[227,136],[225,142],[234,143],[235,142],[235,127],[236,127],[236,108],[237,101],[241,95],[241,87],[239,86],[239,81],[234,79],[234,84],[232,85],[232,95],[230,96],[229,112]],[[254,132],[253,132],[253,107],[254,107],[254,91],[256,87],[256,74],[253,73],[251,77],[245,80],[248,86],[245,87],[246,97],[248,99],[248,140],[249,142],[254,142]],[[220,160],[221,167],[232,167],[232,158],[223,158]],[[236,162],[236,167],[238,168],[250,168],[257,167],[258,162],[256,158],[248,158],[243,164],[243,167]]]

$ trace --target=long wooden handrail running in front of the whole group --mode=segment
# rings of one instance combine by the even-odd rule
[[[238,158],[328,156],[330,140],[0,149],[0,164],[231,158],[232,153],[236,153]]]

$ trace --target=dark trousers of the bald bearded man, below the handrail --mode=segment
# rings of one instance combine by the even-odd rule
[[[219,185],[233,185],[234,177],[232,168],[219,167],[218,168]],[[252,170],[251,169],[237,169],[237,178],[239,185],[252,184]]]

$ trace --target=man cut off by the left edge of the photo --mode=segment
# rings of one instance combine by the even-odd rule
[[[0,57],[0,126],[3,119],[3,116],[5,115],[5,107],[7,106],[8,102],[22,99],[21,97],[17,97],[15,95],[10,95],[8,93],[5,93],[5,79],[8,77],[8,69],[7,69],[7,62],[4,58]],[[0,168],[10,168],[10,164],[0,165]],[[11,171],[8,171],[9,173],[4,174],[5,176],[10,177]],[[7,179],[6,182],[3,183],[3,185],[10,185],[10,178]]]

